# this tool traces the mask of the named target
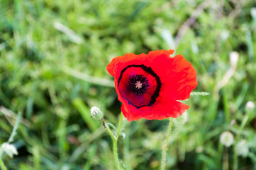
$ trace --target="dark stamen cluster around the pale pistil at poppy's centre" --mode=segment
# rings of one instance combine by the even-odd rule
[[[148,90],[148,79],[143,74],[135,74],[129,77],[129,89],[133,94],[143,96]]]

